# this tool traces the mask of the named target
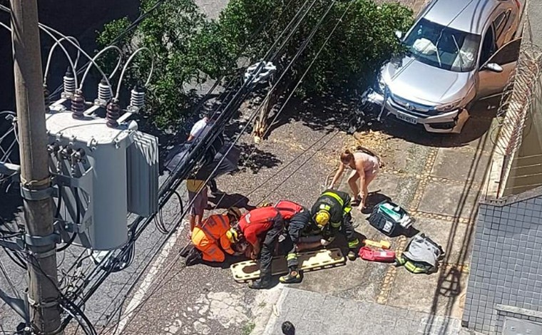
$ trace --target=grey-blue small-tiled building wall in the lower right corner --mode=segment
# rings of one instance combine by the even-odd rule
[[[502,334],[506,318],[542,325],[542,187],[479,206],[463,325]]]

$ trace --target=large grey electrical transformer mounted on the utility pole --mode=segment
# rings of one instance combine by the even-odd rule
[[[74,243],[111,250],[128,240],[129,213],[158,209],[158,140],[87,110],[73,115],[62,104],[46,114],[48,153],[57,224]],[[91,112],[91,111],[90,111]]]

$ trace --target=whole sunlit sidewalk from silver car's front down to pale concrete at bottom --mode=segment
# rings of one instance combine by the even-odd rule
[[[295,324],[296,335],[470,334],[461,329],[461,316],[477,203],[493,150],[487,131],[491,113],[480,106],[455,137],[403,129],[404,137],[387,140],[387,167],[369,186],[369,192],[378,191],[369,202],[389,197],[414,217],[416,230],[443,247],[446,257],[439,272],[411,274],[403,267],[362,259],[307,272],[302,283],[279,288],[283,291],[263,334],[282,334],[285,320]],[[386,133],[399,134],[396,130]],[[340,188],[346,191],[344,184]],[[408,237],[387,237],[366,217],[354,210],[357,232],[404,250]],[[252,334],[262,334],[263,328]]]

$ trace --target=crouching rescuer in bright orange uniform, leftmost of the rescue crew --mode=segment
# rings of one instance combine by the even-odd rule
[[[241,217],[241,211],[232,207],[223,215],[210,215],[201,225],[194,227],[192,243],[207,262],[224,262],[225,252],[235,254],[226,232]]]

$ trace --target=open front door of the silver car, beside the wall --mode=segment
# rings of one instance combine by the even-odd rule
[[[504,44],[479,69],[478,98],[486,98],[502,93],[508,82],[521,48],[521,38],[516,38]],[[496,64],[502,71],[496,71]],[[493,69],[492,69],[493,68]]]

